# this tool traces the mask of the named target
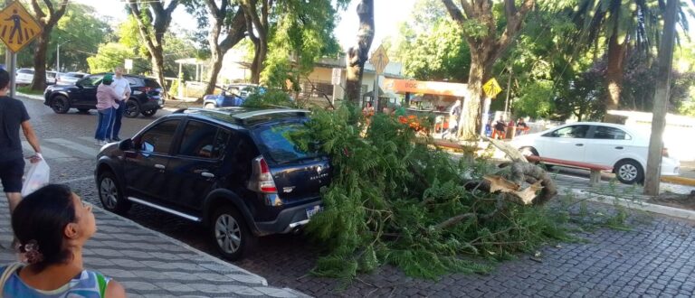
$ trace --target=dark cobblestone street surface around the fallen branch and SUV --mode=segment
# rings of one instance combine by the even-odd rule
[[[32,110],[30,115],[34,116]],[[93,115],[44,116],[40,127],[52,138],[81,142],[80,135],[93,133]],[[43,119],[49,120],[43,122]],[[128,125],[126,131],[132,135],[151,120],[124,119]],[[52,125],[56,121],[61,125]],[[89,126],[89,129],[78,128],[75,134],[65,135],[56,128],[67,125]],[[48,143],[47,146],[53,146]],[[91,175],[93,161],[57,162],[49,161],[56,173],[52,178],[69,181],[83,197],[96,202],[93,179],[80,179]],[[588,184],[583,178],[563,177],[557,179],[561,187],[586,188]],[[628,192],[627,189],[618,191]],[[605,208],[600,204],[591,206]],[[135,206],[127,217],[216,256],[214,247],[205,237],[205,229],[186,220],[139,206]],[[694,227],[690,221],[656,217],[648,223],[635,222],[629,231],[599,229],[579,234],[586,242],[562,243],[557,247],[548,244],[539,250],[541,263],[520,255],[517,260],[499,265],[490,275],[444,275],[431,281],[410,278],[394,267],[385,266],[375,273],[359,275],[357,281],[344,289],[341,289],[340,281],[309,275],[320,254],[320,247],[302,236],[262,237],[254,254],[234,265],[264,276],[274,286],[289,287],[318,297],[690,297],[695,295],[695,280],[689,278],[695,275],[695,263],[691,261],[695,259]],[[167,282],[176,283],[176,280]]]

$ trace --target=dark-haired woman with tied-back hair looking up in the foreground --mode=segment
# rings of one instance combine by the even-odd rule
[[[82,247],[97,230],[91,205],[66,185],[49,184],[22,200],[12,218],[23,263],[0,268],[4,297],[126,297],[123,286],[85,270]]]

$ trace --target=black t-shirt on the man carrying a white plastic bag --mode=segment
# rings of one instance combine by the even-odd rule
[[[19,129],[26,120],[29,120],[29,114],[22,101],[0,98],[0,161],[24,158]]]

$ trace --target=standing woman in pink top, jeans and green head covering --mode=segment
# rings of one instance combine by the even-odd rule
[[[107,139],[110,137],[112,118],[116,114],[116,109],[119,108],[119,104],[116,102],[119,100],[119,96],[111,88],[111,83],[113,83],[113,77],[106,74],[97,87],[99,120],[97,120],[97,132],[94,134],[94,138],[97,139],[98,145],[108,144]]]

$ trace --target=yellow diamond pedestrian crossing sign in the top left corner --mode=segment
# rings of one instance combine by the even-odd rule
[[[0,11],[0,39],[10,51],[22,50],[41,31],[42,27],[19,1],[14,1]]]

